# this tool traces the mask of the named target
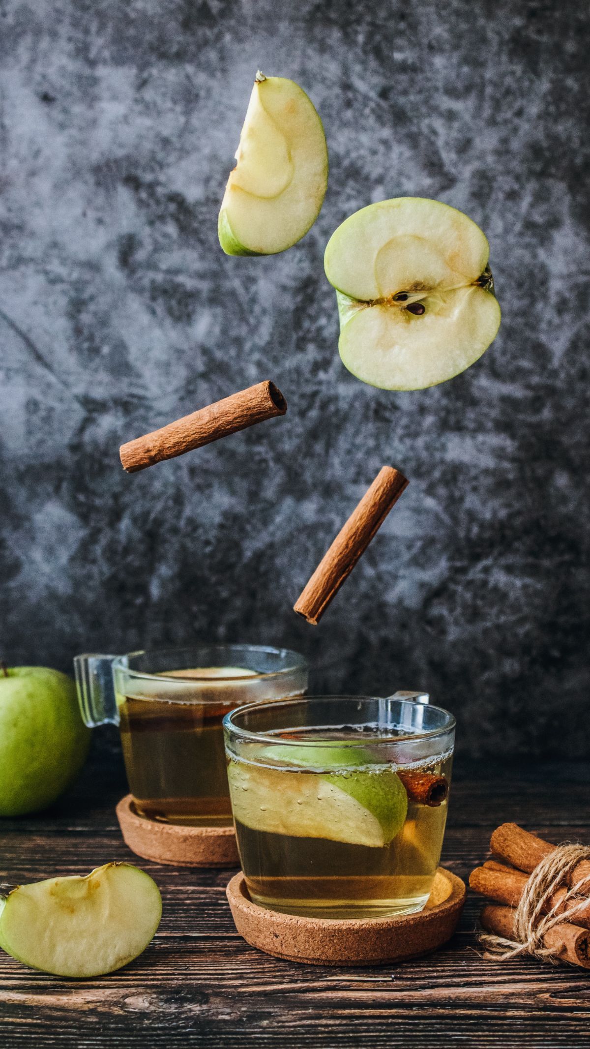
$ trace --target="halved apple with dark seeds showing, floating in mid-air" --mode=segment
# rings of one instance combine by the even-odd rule
[[[479,227],[438,200],[396,197],[347,218],[324,266],[348,370],[371,386],[414,390],[474,364],[500,326],[488,256]]]

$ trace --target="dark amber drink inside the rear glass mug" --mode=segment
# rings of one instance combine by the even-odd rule
[[[175,701],[163,685],[161,695],[118,698],[123,756],[139,815],[185,827],[232,826],[221,722],[243,700],[239,684],[214,679],[255,675],[245,667],[167,670],[159,677],[199,679],[194,699],[189,688]],[[207,688],[206,702],[199,702],[203,679],[212,679],[215,691]]]

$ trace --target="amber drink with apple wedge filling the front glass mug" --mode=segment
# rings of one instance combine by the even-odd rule
[[[291,759],[289,748],[266,749],[272,762]],[[338,767],[345,747],[330,744],[326,751],[332,759],[323,770],[264,766],[263,752],[256,762],[230,762],[238,848],[252,899],[315,918],[420,911],[440,859],[452,754],[410,766],[351,768],[345,764],[350,751]],[[362,761],[356,748],[355,755]],[[416,800],[412,784],[435,780],[442,785],[443,800],[434,806]]]

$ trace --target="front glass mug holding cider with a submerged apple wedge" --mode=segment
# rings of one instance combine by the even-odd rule
[[[223,728],[255,903],[314,918],[422,909],[446,821],[452,714],[424,693],[310,697],[239,707]]]

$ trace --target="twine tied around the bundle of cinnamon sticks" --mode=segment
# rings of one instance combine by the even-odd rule
[[[575,922],[575,916],[588,907],[590,875],[566,887],[565,895],[563,892],[558,894],[555,903],[548,904],[556,891],[567,885],[582,860],[590,860],[590,847],[565,843],[545,856],[528,878],[516,908],[513,939],[482,933],[480,940],[486,948],[484,958],[504,962],[520,955],[532,955],[555,965],[563,961],[559,957],[560,947],[548,946],[545,937],[563,922]]]

